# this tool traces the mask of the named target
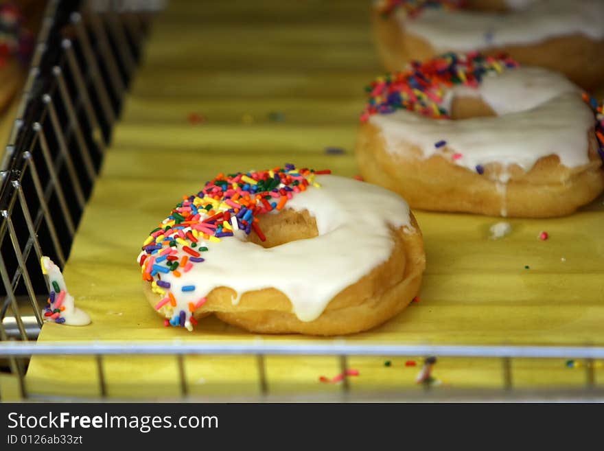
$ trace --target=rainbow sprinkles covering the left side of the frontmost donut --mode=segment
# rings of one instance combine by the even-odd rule
[[[196,325],[193,312],[207,301],[207,293],[189,303],[186,311],[176,312],[176,297],[182,292],[194,292],[196,287],[186,285],[181,292],[172,292],[170,283],[163,281],[161,275],[172,273],[181,277],[181,272],[187,273],[194,264],[205,261],[208,251],[205,242],[220,242],[233,237],[237,231],[246,235],[253,232],[265,241],[258,216],[283,209],[289,199],[307,187],[320,187],[314,181],[320,174],[331,174],[331,171],[297,169],[286,164],[272,170],[218,174],[197,194],[184,196],[170,216],[150,231],[139,257],[143,280],[150,282],[152,291],[163,297],[155,309],[172,310],[170,321],[164,324],[191,330]],[[179,249],[184,253],[181,257],[177,255]]]

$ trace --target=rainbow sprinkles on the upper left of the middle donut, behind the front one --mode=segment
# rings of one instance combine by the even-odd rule
[[[360,120],[367,122],[371,115],[394,113],[397,109],[448,119],[448,111],[443,108],[445,88],[454,84],[476,88],[489,73],[515,67],[518,62],[507,56],[484,56],[479,52],[448,53],[423,63],[413,61],[405,71],[388,73],[367,86],[369,102]]]

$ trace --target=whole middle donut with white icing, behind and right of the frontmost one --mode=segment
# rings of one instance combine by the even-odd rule
[[[601,106],[559,73],[447,54],[368,91],[361,174],[413,208],[546,218],[604,189]]]

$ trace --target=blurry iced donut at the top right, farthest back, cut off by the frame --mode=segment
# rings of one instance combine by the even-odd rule
[[[375,3],[373,25],[389,71],[448,51],[481,51],[559,71],[583,89],[604,79],[601,0],[386,0]]]

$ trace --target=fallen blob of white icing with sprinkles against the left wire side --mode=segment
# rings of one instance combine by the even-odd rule
[[[88,325],[90,316],[75,307],[75,299],[67,291],[61,270],[49,257],[40,259],[42,273],[47,275],[50,296],[45,308],[45,321],[66,325]]]

